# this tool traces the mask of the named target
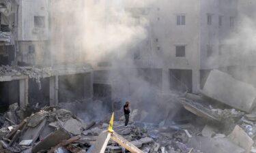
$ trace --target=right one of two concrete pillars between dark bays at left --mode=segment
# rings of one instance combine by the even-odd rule
[[[50,106],[55,106],[59,102],[59,76],[50,78]]]

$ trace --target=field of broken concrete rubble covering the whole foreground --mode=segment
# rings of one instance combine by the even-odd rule
[[[197,122],[191,118],[170,122],[169,115],[158,122],[142,122],[145,118],[143,114],[149,113],[134,109],[129,125],[125,127],[124,121],[115,120],[113,130],[144,152],[206,153],[210,148],[210,153],[242,153],[253,149],[253,139],[256,135],[256,116],[253,112],[246,114],[230,107],[220,108],[213,103],[202,104],[203,97],[188,96],[190,99],[181,98],[181,102],[187,110],[199,116],[196,118],[199,120]],[[17,111],[20,109],[16,105],[12,105],[8,110],[11,114],[14,112],[13,120],[17,118]],[[116,111],[120,114],[122,107]],[[44,107],[31,116],[23,118],[20,123],[16,120],[17,125],[12,125],[11,122],[3,119],[7,123],[0,129],[0,146],[12,152],[26,153],[88,152],[96,143],[100,133],[106,131],[109,118],[102,117],[106,120],[85,122],[72,112],[63,108]],[[111,116],[110,112],[105,116]],[[12,128],[9,130],[10,125]],[[109,152],[124,151],[113,141],[109,141],[106,146]]]

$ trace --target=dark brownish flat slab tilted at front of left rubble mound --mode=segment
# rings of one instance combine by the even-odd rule
[[[44,140],[37,143],[32,148],[32,152],[37,153],[42,150],[48,150],[65,139],[70,139],[70,135],[68,134],[68,132],[64,129],[57,129],[57,131],[54,131],[53,133],[45,137]]]

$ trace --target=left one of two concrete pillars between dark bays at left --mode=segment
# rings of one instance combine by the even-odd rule
[[[29,79],[22,79],[19,80],[20,85],[20,107],[25,109],[27,104],[29,103],[28,100],[28,93],[29,93]]]

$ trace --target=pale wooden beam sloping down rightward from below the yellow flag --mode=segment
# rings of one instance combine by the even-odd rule
[[[143,151],[139,150],[139,148],[134,146],[132,143],[130,143],[114,131],[113,133],[111,133],[111,139],[113,139],[113,141],[117,142],[120,146],[123,146],[124,148],[126,148],[126,150],[129,150],[132,153],[143,153]]]

